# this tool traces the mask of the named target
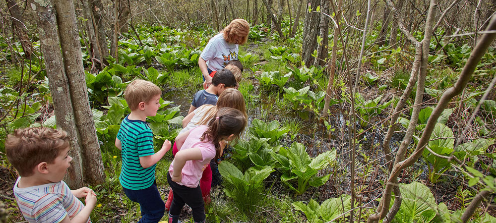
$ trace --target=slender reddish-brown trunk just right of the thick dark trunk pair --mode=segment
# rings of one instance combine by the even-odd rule
[[[334,2],[330,2],[331,4],[334,4]],[[334,20],[336,22],[339,22],[341,20],[341,11],[343,7],[343,0],[338,1],[338,7],[337,11],[334,11]],[[329,10],[330,11],[330,10]],[[334,24],[334,23],[333,23]],[[327,82],[327,88],[325,91],[325,98],[324,98],[324,108],[322,110],[322,116],[327,117],[328,113],[327,111],[329,110],[329,105],[331,103],[331,94],[332,94],[332,85],[334,85],[334,76],[336,72],[336,57],[337,57],[337,50],[338,50],[338,31],[337,31],[337,26],[334,24],[334,37],[333,37],[333,47],[332,47],[332,52],[331,52],[331,60],[329,61],[328,67],[331,68],[331,71],[329,72],[329,82]]]

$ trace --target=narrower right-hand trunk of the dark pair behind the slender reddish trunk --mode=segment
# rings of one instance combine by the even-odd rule
[[[315,66],[320,65],[323,66],[327,63],[327,55],[328,55],[328,50],[327,50],[327,43],[329,42],[329,38],[327,36],[329,35],[329,20],[327,18],[327,15],[329,14],[329,0],[324,0],[324,2],[321,4],[320,7],[320,33],[319,36],[322,38],[322,41],[317,47],[317,57],[315,58],[315,62],[313,63]]]

